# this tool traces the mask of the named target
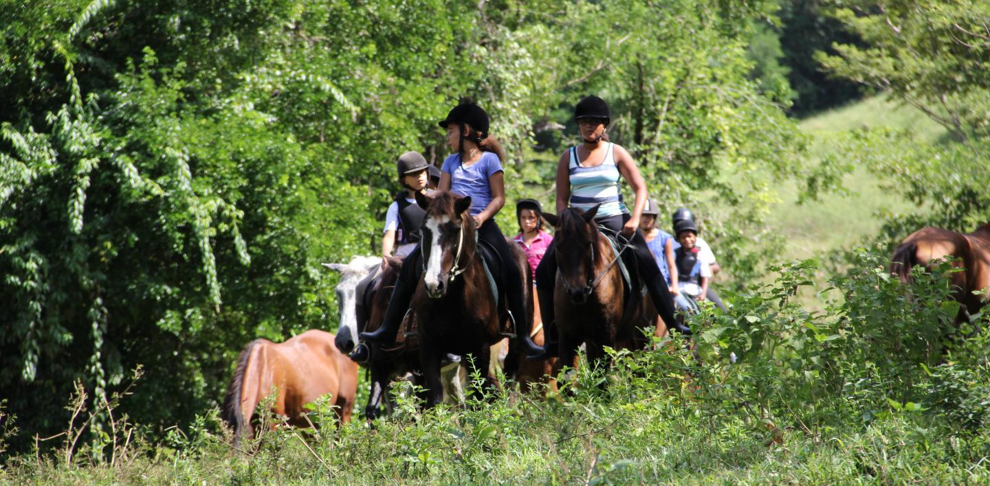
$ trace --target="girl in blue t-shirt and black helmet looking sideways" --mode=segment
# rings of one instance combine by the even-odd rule
[[[494,248],[502,262],[509,263],[503,269],[503,275],[506,278],[509,312],[516,321],[516,335],[523,345],[523,353],[543,353],[543,348],[530,338],[533,323],[532,315],[526,311],[523,276],[519,268],[511,264],[515,262],[512,250],[495,222],[495,214],[505,204],[504,156],[502,147],[488,136],[488,114],[473,103],[462,103],[450,110],[440,125],[446,128],[446,142],[454,153],[444,160],[438,189],[471,197],[470,212],[477,227],[478,239]],[[420,252],[414,250],[412,255],[419,256]],[[375,332],[361,333],[361,339],[381,344],[395,341],[399,323],[419,282],[421,269],[418,262],[407,262],[402,266],[382,327]]]

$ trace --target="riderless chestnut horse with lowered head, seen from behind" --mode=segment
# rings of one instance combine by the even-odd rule
[[[227,388],[223,417],[234,428],[234,445],[253,434],[254,408],[275,389],[271,411],[297,427],[309,425],[305,405],[331,395],[342,422],[350,420],[357,390],[357,364],[334,345],[334,335],[311,329],[284,343],[255,339],[238,357]]]

